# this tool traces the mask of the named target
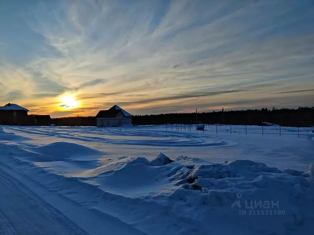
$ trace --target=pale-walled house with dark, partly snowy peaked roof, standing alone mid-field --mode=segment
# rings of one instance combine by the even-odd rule
[[[97,127],[116,127],[124,124],[132,124],[132,114],[126,112],[117,105],[108,110],[100,110],[96,115]]]

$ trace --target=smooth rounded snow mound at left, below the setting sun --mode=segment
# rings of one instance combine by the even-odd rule
[[[70,159],[74,156],[76,157],[88,157],[88,156],[100,156],[103,155],[102,152],[85,147],[80,144],[73,144],[73,143],[68,143],[68,142],[56,142],[52,144],[47,144],[44,146],[40,147],[29,147],[28,150],[43,154],[43,155],[48,155],[48,156],[55,156],[59,158],[65,158],[65,159]]]

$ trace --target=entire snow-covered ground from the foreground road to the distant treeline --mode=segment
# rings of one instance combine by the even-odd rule
[[[0,126],[0,234],[311,234],[311,128],[217,132]]]

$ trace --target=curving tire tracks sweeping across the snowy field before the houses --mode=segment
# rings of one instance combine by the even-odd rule
[[[103,144],[123,144],[139,146],[160,146],[160,147],[220,147],[232,146],[236,142],[229,140],[213,139],[201,133],[188,133],[163,130],[145,130],[136,128],[106,128],[95,131],[87,128],[41,128],[39,130],[32,128],[9,127],[17,133],[26,137],[50,136],[57,138],[71,139],[83,142],[97,142]],[[40,127],[39,127],[40,128]],[[68,130],[68,132],[66,132]],[[26,134],[26,135],[25,135]]]

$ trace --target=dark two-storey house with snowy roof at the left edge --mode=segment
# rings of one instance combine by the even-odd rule
[[[27,125],[28,109],[17,104],[6,104],[0,107],[0,125]]]

